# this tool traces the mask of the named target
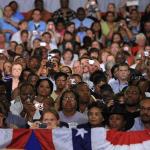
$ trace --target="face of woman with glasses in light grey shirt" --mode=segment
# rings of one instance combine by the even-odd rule
[[[62,101],[62,108],[66,112],[72,112],[76,110],[77,102],[75,95],[72,92],[67,92],[64,94]]]

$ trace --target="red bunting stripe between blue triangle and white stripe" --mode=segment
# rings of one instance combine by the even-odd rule
[[[42,150],[55,150],[52,138],[52,130],[49,129],[36,129],[34,134],[39,140]]]

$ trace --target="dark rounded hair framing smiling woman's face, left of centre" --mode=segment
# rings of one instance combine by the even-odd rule
[[[50,93],[49,93],[49,95],[53,92],[53,83],[52,83],[52,81],[51,80],[49,80],[48,78],[45,78],[45,79],[39,79],[38,81],[37,81],[37,83],[36,83],[36,86],[35,86],[35,89],[36,89],[36,95],[38,95],[38,87],[39,87],[39,85],[40,85],[40,83],[41,82],[43,82],[43,81],[47,81],[48,82],[48,84],[49,84],[49,87],[50,87]]]

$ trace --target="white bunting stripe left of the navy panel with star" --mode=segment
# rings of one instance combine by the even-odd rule
[[[73,150],[72,130],[57,128],[52,130],[53,144],[55,150]]]

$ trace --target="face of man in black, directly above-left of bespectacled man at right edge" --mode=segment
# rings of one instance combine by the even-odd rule
[[[125,92],[125,103],[129,106],[136,106],[140,101],[140,93],[136,86],[130,86]]]

